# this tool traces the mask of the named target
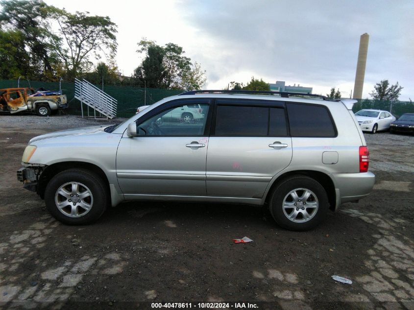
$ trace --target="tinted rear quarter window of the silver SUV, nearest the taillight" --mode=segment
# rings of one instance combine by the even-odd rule
[[[286,103],[292,137],[333,138],[337,136],[333,119],[325,106]]]

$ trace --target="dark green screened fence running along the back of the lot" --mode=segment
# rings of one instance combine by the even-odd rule
[[[47,90],[59,90],[59,82],[41,82],[20,80],[20,87],[32,87],[35,90],[45,88]],[[17,87],[17,80],[0,80],[0,89]],[[102,89],[102,85],[96,85]],[[81,115],[80,101],[74,98],[74,83],[61,83],[63,94],[68,97],[69,114]],[[166,89],[128,87],[128,86],[103,86],[103,91],[114,97],[118,101],[117,117],[127,118],[135,114],[137,107],[149,105],[165,97],[178,95],[182,91],[172,91]],[[84,107],[86,108],[86,106]],[[380,101],[371,99],[358,99],[353,107],[353,112],[362,109],[379,109],[390,111],[394,116],[400,117],[404,113],[414,113],[414,103],[412,101]]]

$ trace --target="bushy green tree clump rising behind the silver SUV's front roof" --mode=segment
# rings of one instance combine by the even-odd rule
[[[182,47],[168,43],[164,47],[143,38],[138,43],[139,53],[146,57],[135,69],[133,81],[138,85],[176,90],[200,89],[205,85],[205,71],[198,63],[184,56]]]

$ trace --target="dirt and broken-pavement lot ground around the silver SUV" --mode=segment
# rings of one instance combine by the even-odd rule
[[[414,309],[414,136],[366,134],[374,191],[313,231],[257,207],[189,203],[125,203],[65,226],[16,170],[33,136],[96,123],[107,121],[0,116],[1,309]],[[254,242],[231,241],[244,236]]]

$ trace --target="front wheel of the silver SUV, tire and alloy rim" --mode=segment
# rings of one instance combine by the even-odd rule
[[[96,221],[108,206],[102,179],[86,169],[56,174],[45,191],[46,207],[54,218],[69,225]]]

